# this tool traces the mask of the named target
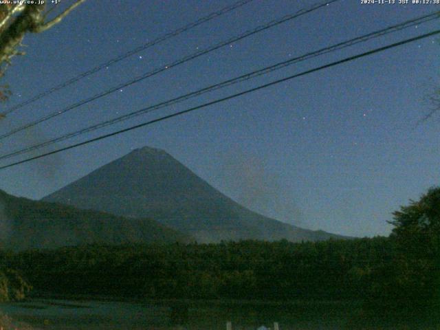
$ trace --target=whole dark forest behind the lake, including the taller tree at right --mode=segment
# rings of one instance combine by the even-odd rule
[[[362,300],[432,317],[440,310],[440,188],[401,207],[391,223],[389,237],[352,240],[3,251],[0,294],[9,283],[19,287],[15,299],[32,286],[32,296]]]

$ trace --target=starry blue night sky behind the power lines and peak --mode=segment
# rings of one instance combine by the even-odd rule
[[[14,58],[3,78],[14,95],[2,111],[233,2],[86,1],[52,30],[26,36],[27,54]],[[255,0],[11,113],[0,122],[0,133],[314,2]],[[440,5],[341,0],[8,137],[1,141],[0,155],[434,10]],[[52,148],[438,28],[438,20],[419,25]],[[387,235],[391,226],[386,221],[394,210],[440,184],[439,116],[417,126],[432,109],[428,97],[440,85],[439,54],[438,36],[396,47],[1,170],[0,188],[39,199],[133,148],[153,146],[265,215],[338,234]]]

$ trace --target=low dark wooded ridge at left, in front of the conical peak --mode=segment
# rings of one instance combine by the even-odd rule
[[[151,219],[126,219],[58,203],[18,198],[0,190],[1,245],[13,250],[87,243],[166,243],[188,236]]]

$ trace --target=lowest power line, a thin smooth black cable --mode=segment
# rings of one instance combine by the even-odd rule
[[[26,162],[31,162],[32,160],[39,159],[39,158],[42,158],[42,157],[47,157],[49,155],[54,155],[55,153],[60,153],[61,151],[66,151],[66,150],[69,150],[69,149],[72,149],[72,148],[76,148],[78,146],[83,146],[83,145],[89,144],[91,142],[96,142],[96,141],[99,141],[99,140],[103,140],[103,139],[106,139],[107,137],[111,137],[111,136],[114,136],[114,135],[119,135],[119,134],[122,134],[122,133],[125,133],[125,132],[128,132],[128,131],[133,131],[134,129],[139,129],[139,128],[144,127],[144,126],[147,126],[147,125],[150,125],[150,124],[154,124],[156,122],[162,122],[163,120],[168,120],[170,118],[174,118],[174,117],[177,117],[179,115],[184,115],[185,113],[189,113],[189,112],[195,111],[197,109],[202,109],[204,107],[209,107],[209,106],[211,106],[213,104],[225,102],[227,100],[231,100],[233,98],[237,98],[237,97],[243,96],[245,94],[250,94],[250,93],[252,93],[254,91],[259,91],[260,89],[264,89],[264,88],[267,88],[267,87],[270,87],[270,86],[273,86],[273,85],[277,85],[279,83],[284,83],[285,81],[292,80],[292,79],[300,77],[300,76],[305,76],[305,75],[311,74],[313,72],[318,72],[318,71],[320,71],[322,69],[327,69],[329,67],[334,67],[334,66],[340,65],[342,63],[347,63],[347,62],[354,61],[354,60],[356,60],[358,58],[362,58],[364,56],[369,56],[369,55],[376,54],[376,53],[379,53],[379,52],[384,52],[385,50],[389,50],[391,48],[398,47],[400,45],[405,45],[407,43],[412,43],[414,41],[425,39],[425,38],[428,38],[429,36],[434,36],[435,34],[440,34],[440,30],[435,30],[435,31],[432,31],[432,32],[429,32],[429,33],[426,33],[426,34],[421,34],[421,35],[416,36],[414,38],[406,39],[404,41],[399,41],[398,43],[392,43],[391,45],[386,45],[384,47],[379,47],[379,48],[376,48],[375,50],[370,50],[369,52],[364,52],[362,54],[358,54],[358,55],[355,55],[355,56],[350,56],[350,57],[344,58],[344,59],[342,59],[340,61],[332,62],[332,63],[329,63],[327,65],[322,65],[322,66],[316,67],[314,69],[309,69],[309,70],[307,70],[305,72],[301,72],[300,74],[294,74],[293,76],[288,76],[286,78],[281,78],[281,79],[278,79],[278,80],[274,80],[274,81],[272,81],[270,83],[266,83],[264,85],[259,85],[258,87],[254,87],[252,89],[247,89],[245,91],[241,91],[239,93],[232,94],[232,95],[226,96],[224,98],[219,98],[217,100],[214,100],[214,101],[211,101],[211,102],[207,102],[207,103],[198,105],[197,107],[192,107],[190,109],[179,111],[179,112],[176,112],[176,113],[173,113],[173,114],[170,114],[170,115],[165,115],[165,116],[163,116],[161,118],[157,118],[155,120],[149,120],[148,122],[143,122],[142,124],[137,124],[135,126],[130,126],[130,127],[126,128],[126,129],[121,129],[121,130],[115,131],[113,133],[108,133],[108,134],[100,135],[98,137],[94,137],[93,139],[86,140],[84,142],[79,142],[79,143],[76,143],[76,144],[72,144],[70,146],[65,146],[63,148],[58,148],[57,150],[50,151],[48,153],[43,153],[42,155],[30,157],[30,158],[27,158],[27,159],[23,159],[23,160],[21,160],[19,162],[14,162],[12,164],[0,166],[0,170],[2,170],[4,168],[9,168],[9,167],[12,167],[12,166],[16,166],[16,165],[19,165],[19,164],[23,164],[23,163],[26,163]]]

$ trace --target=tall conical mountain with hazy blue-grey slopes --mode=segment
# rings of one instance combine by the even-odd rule
[[[144,147],[89,173],[43,200],[150,218],[199,242],[342,238],[298,228],[239,205],[165,151]]]

